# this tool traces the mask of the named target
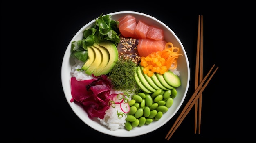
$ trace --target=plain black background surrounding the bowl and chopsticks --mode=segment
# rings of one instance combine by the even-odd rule
[[[249,74],[254,70],[251,54],[255,44],[248,43],[255,39],[252,4],[1,3],[1,142],[255,141],[255,76],[253,72]],[[138,137],[103,134],[87,126],[72,111],[61,85],[61,64],[67,45],[85,24],[102,13],[116,11],[151,15],[180,38],[191,70],[189,91],[181,109],[194,91],[198,15],[203,15],[204,75],[213,64],[219,69],[203,92],[201,134],[194,134],[193,108],[169,141],[165,136],[181,109],[161,128]]]

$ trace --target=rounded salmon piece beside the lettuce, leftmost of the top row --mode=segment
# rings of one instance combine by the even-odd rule
[[[137,26],[136,18],[132,15],[126,15],[119,18],[119,31],[124,37],[133,37],[135,27]]]

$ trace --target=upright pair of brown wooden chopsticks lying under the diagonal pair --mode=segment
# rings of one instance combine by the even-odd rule
[[[197,42],[196,51],[197,53],[196,53],[196,66],[195,66],[195,89],[198,87],[198,84],[202,82],[202,79],[203,79],[203,16],[202,15],[198,16],[198,42]],[[199,79],[198,79],[198,73],[199,73]],[[195,102],[195,134],[197,132],[197,122],[198,122],[198,133],[200,134],[200,131],[201,131],[200,130],[201,115],[202,115],[201,111],[202,111],[202,94],[199,96],[199,100]]]

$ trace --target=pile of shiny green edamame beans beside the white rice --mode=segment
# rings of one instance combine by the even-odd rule
[[[137,126],[161,119],[162,115],[172,106],[176,95],[176,89],[158,89],[152,94],[139,92],[138,95],[133,95],[128,102],[130,111],[126,117],[126,130],[129,131]]]

